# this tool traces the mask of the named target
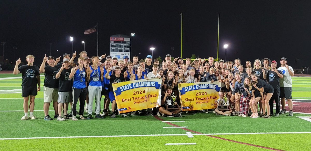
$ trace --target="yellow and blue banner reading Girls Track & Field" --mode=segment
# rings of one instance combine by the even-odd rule
[[[182,111],[214,109],[220,82],[181,83],[178,85]]]

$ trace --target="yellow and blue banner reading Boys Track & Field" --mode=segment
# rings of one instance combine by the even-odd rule
[[[120,113],[161,106],[162,80],[134,80],[112,84]]]

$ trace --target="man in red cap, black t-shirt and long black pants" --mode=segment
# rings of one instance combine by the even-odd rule
[[[282,71],[279,71],[276,69],[277,67],[277,63],[275,60],[273,60],[271,62],[271,70],[268,71],[267,73],[267,79],[270,85],[272,85],[273,89],[274,89],[274,93],[271,97],[271,99],[269,100],[269,104],[270,104],[270,113],[271,115],[273,114],[273,99],[275,101],[275,105],[276,105],[276,112],[275,112],[275,116],[279,116],[279,112],[280,112],[280,83],[279,80],[280,78],[283,78],[282,75]]]

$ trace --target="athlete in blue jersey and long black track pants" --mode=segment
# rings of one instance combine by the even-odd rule
[[[84,65],[84,58],[78,58],[78,66],[71,69],[71,73],[69,78],[73,77],[73,104],[72,104],[72,120],[78,120],[76,117],[77,112],[77,102],[78,99],[80,100],[80,107],[79,107],[79,118],[85,119],[83,116],[84,110],[84,102],[87,95],[87,88],[86,88],[86,69],[83,67]]]

